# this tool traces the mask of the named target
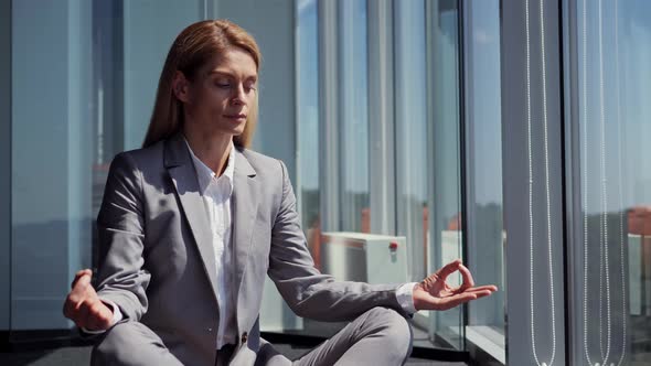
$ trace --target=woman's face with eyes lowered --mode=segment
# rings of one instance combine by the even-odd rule
[[[244,131],[257,93],[256,64],[246,51],[228,49],[201,67],[192,82],[179,77],[182,80],[174,82],[182,84],[182,93],[177,90],[177,97],[184,104],[188,127],[231,137]]]

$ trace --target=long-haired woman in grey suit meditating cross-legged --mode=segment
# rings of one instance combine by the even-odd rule
[[[249,146],[260,53],[223,20],[181,32],[143,148],[118,154],[97,218],[97,287],[79,271],[67,317],[99,333],[97,365],[285,365],[259,336],[269,276],[301,316],[351,323],[298,364],[402,364],[405,315],[489,295],[460,261],[420,283],[337,282],[314,269],[282,162]],[[463,284],[445,279],[460,271]]]

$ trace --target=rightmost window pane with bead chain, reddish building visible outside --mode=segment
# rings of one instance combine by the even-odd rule
[[[651,362],[651,3],[576,1],[581,365]],[[580,299],[580,300],[579,300]]]

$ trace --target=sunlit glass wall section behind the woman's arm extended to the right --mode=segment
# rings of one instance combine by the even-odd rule
[[[462,255],[457,1],[296,4],[299,206],[316,263],[341,280],[420,281]],[[420,312],[418,345],[461,349],[462,324],[462,308]]]

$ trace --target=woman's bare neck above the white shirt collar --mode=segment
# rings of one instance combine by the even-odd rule
[[[222,175],[228,163],[233,137],[222,133],[202,133],[189,128],[183,129],[183,134],[196,158],[217,176]]]

